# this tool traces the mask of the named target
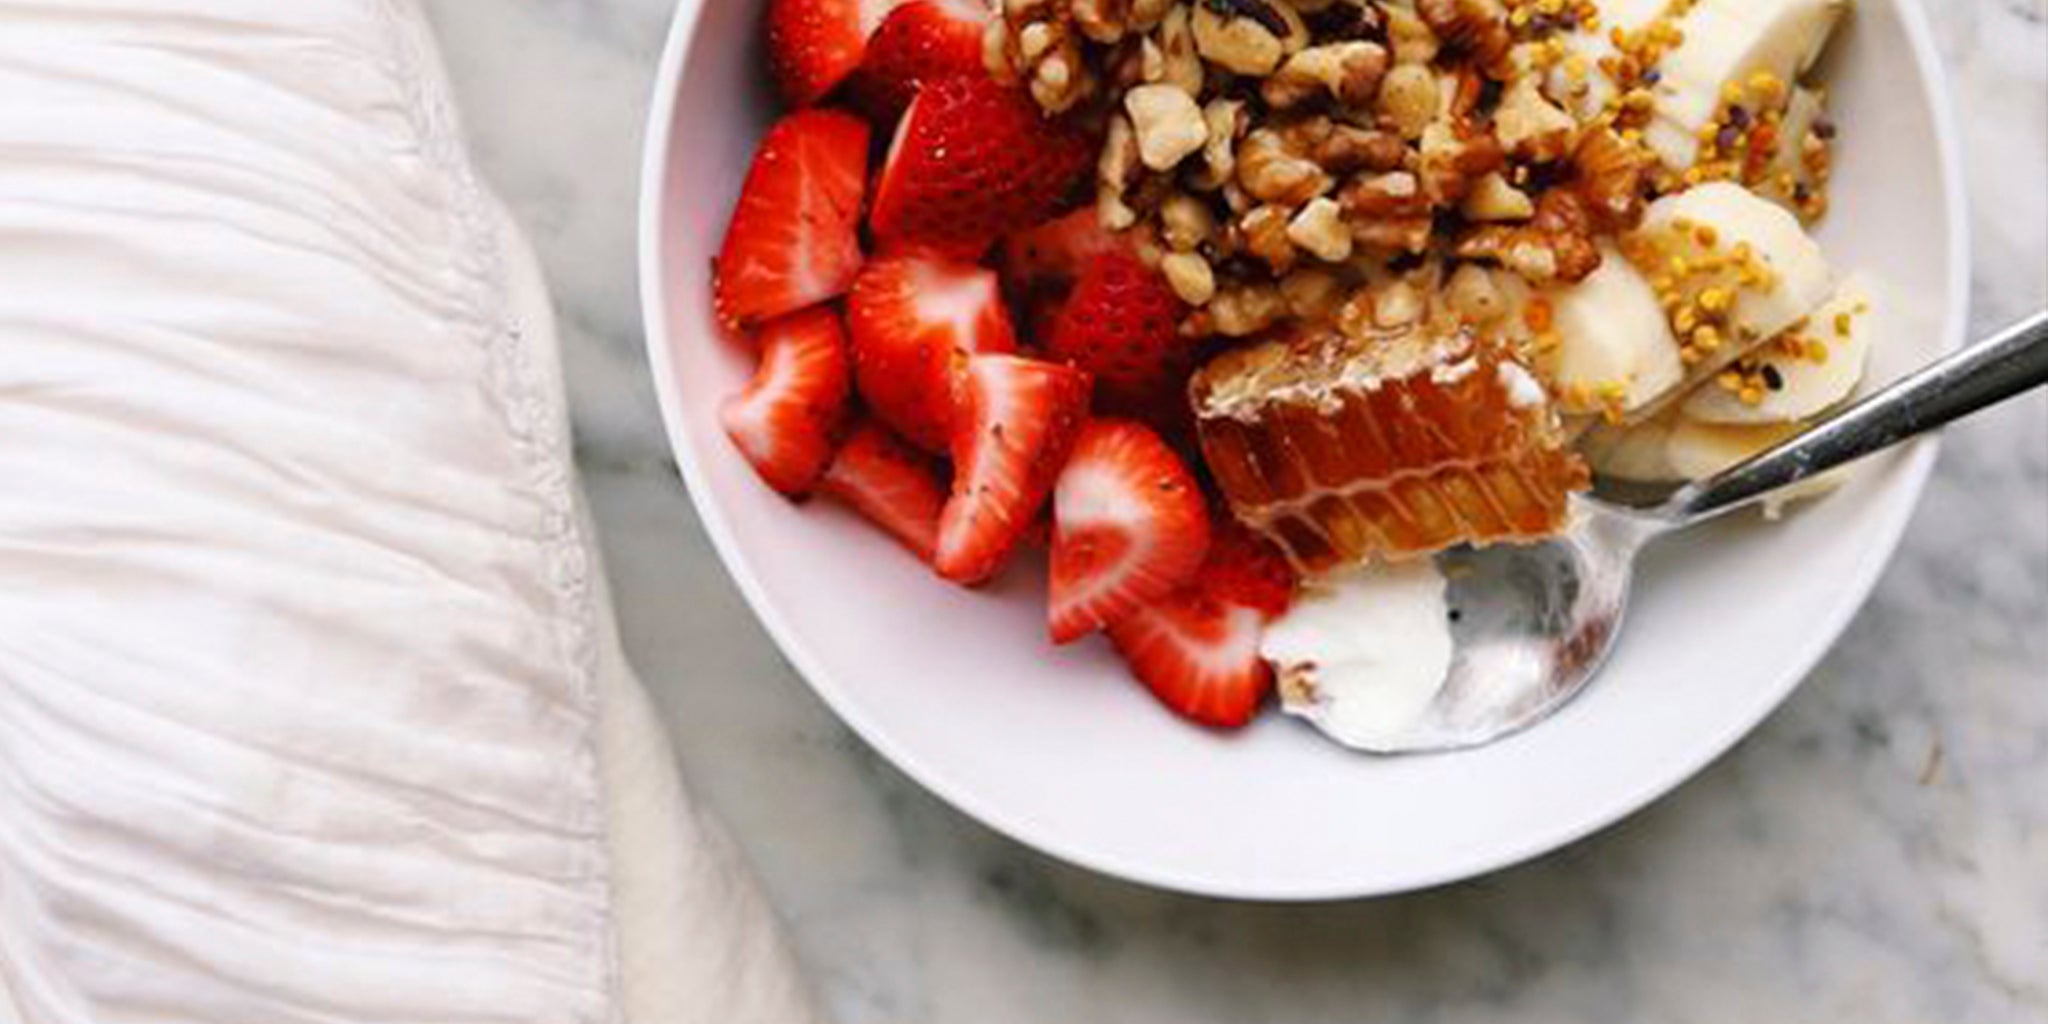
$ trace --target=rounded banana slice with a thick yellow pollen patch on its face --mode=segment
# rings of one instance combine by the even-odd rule
[[[1835,291],[1827,256],[1798,219],[1733,182],[1651,203],[1622,248],[1671,299],[1688,381],[1720,373]]]

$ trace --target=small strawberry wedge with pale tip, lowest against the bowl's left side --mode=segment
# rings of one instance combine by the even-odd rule
[[[762,362],[719,422],[770,487],[799,496],[831,461],[846,418],[846,332],[831,309],[805,309],[766,324]]]

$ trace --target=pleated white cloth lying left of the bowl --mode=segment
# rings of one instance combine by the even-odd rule
[[[0,1022],[803,1024],[408,0],[0,0]]]

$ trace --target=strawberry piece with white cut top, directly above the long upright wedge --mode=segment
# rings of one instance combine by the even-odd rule
[[[874,260],[846,297],[860,395],[913,444],[952,440],[954,381],[977,352],[1012,352],[1016,334],[995,272],[940,256]]]

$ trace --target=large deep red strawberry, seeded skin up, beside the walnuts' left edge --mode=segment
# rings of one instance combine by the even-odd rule
[[[1087,137],[1049,121],[1022,90],[981,74],[942,78],[903,111],[868,225],[885,244],[979,258],[1059,213],[1092,164]]]

